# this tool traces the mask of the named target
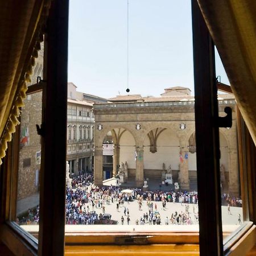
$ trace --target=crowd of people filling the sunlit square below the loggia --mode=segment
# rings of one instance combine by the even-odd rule
[[[81,174],[72,177],[72,188],[67,188],[66,193],[66,224],[117,224],[111,220],[111,216],[106,216],[107,205],[115,204],[117,212],[123,211],[121,224],[130,224],[130,201],[138,202],[138,209],[142,210],[142,205],[147,205],[147,212],[141,214],[135,220],[137,225],[190,225],[198,223],[198,212],[195,206],[198,203],[196,191],[143,191],[141,188],[133,188],[131,192],[122,192],[119,187],[97,187],[93,183],[93,175]],[[156,202],[160,202],[156,204]],[[242,200],[238,197],[231,197],[223,193],[222,202],[231,206],[242,206]],[[160,216],[159,205],[162,210],[166,210],[167,203],[180,203],[185,207],[183,212],[168,213],[170,216]],[[189,209],[191,205],[192,209]],[[97,210],[96,210],[97,209]],[[99,211],[100,210],[100,211]],[[166,215],[168,215],[166,214]],[[191,215],[193,214],[193,218]],[[124,217],[125,216],[125,217]],[[39,206],[36,209],[29,209],[27,216],[17,218],[19,224],[38,224]]]

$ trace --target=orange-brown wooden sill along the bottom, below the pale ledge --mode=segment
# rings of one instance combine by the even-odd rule
[[[250,223],[251,224],[251,223]],[[10,228],[15,228],[15,225],[10,223]],[[11,235],[15,230],[11,231],[7,225],[1,226],[1,240],[5,242],[7,247],[15,255],[35,255],[31,249],[28,249],[28,244],[22,245],[24,242],[19,240],[15,235]],[[27,226],[27,229],[31,226]],[[36,226],[32,226],[36,229]],[[18,229],[20,229],[18,227]],[[104,255],[117,256],[124,255],[199,255],[199,234],[198,232],[172,232],[172,233],[148,233],[138,232],[130,233],[112,233],[106,234],[103,232],[87,232],[86,235],[81,233],[72,233],[71,230],[65,237],[65,255]],[[239,230],[238,230],[239,231]],[[243,232],[243,233],[241,233]],[[16,233],[16,232],[15,232]],[[242,234],[242,235],[241,235]],[[226,233],[228,235],[228,233]],[[230,235],[230,233],[229,233]],[[128,238],[128,240],[126,240]],[[132,240],[134,239],[134,241]],[[255,245],[256,241],[256,226],[247,225],[246,229],[241,228],[237,234],[233,234],[230,241],[230,247],[226,249],[225,256],[242,256],[253,255],[250,249]],[[131,242],[131,244],[129,244]],[[145,242],[148,244],[139,244]],[[16,249],[19,248],[19,251]],[[23,248],[23,249],[22,249]],[[247,254],[249,253],[249,254]]]

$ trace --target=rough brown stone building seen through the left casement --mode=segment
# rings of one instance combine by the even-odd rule
[[[37,77],[43,77],[43,44],[38,52],[33,76],[29,85],[36,84]],[[20,150],[18,171],[18,200],[39,191],[41,160],[40,136],[36,124],[42,123],[42,92],[28,94],[20,115]],[[39,203],[39,202],[38,202]]]

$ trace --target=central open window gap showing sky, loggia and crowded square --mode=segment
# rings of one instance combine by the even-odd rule
[[[67,224],[198,231],[191,3],[127,3],[70,4]]]

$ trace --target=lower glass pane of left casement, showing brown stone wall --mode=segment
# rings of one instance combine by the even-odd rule
[[[20,116],[20,150],[16,223],[38,225],[39,176],[41,163],[40,136],[36,124],[42,123],[42,92],[32,93],[24,101]],[[25,228],[37,237],[38,228]]]

